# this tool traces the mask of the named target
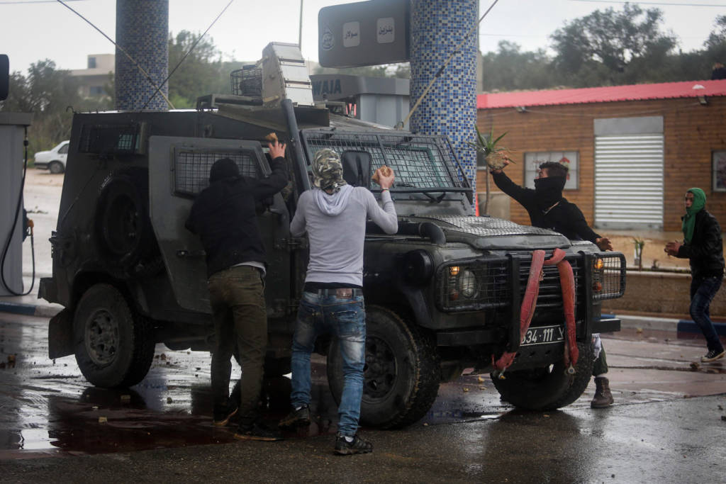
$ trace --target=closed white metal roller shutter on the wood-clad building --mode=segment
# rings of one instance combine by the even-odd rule
[[[663,229],[663,135],[595,136],[595,226]]]

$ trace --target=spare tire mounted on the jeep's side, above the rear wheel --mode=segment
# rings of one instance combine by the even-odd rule
[[[99,196],[94,225],[99,252],[123,276],[143,279],[163,261],[149,218],[149,174],[142,169],[114,173]]]

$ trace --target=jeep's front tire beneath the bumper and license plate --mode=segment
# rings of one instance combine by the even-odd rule
[[[592,376],[592,344],[577,343],[579,358],[575,374],[565,374],[564,361],[544,368],[505,372],[505,380],[492,374],[502,399],[519,409],[554,410],[576,401]]]

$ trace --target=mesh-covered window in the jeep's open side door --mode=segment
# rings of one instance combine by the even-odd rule
[[[195,196],[209,186],[209,171],[220,158],[230,158],[237,164],[240,174],[258,178],[259,165],[255,152],[205,152],[197,150],[178,150],[174,160],[174,193]]]

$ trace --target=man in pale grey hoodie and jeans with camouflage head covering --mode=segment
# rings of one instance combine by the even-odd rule
[[[345,379],[338,406],[335,454],[365,454],[373,446],[356,433],[365,364],[363,244],[368,218],[386,234],[398,231],[396,208],[388,191],[393,185],[393,171],[378,168],[378,177],[374,176],[381,188],[380,208],[368,189],[343,180],[340,156],[332,149],[317,152],[311,168],[314,189],[301,194],[290,223],[293,237],[307,232],[310,261],[293,336],[293,411],[280,426],[310,423],[310,354],[318,335],[330,332],[338,338]]]

